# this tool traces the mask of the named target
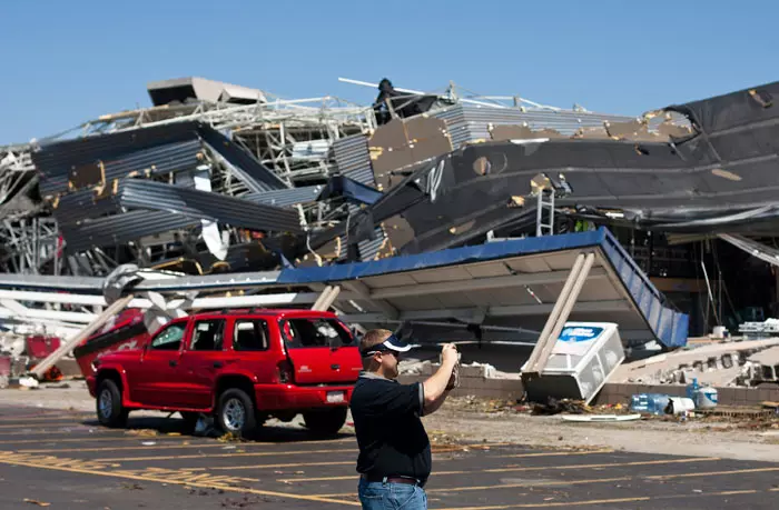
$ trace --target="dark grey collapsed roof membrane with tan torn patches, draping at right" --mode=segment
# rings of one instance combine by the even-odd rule
[[[574,218],[662,231],[765,230],[779,219],[777,93],[779,82],[672,106],[653,132],[650,116],[607,126],[600,137],[504,126],[492,132],[506,140],[467,144],[424,164],[414,166],[414,152],[394,156],[406,158],[397,164],[411,171],[398,178],[374,164],[385,193],[352,218],[349,242],[368,238],[371,226],[385,222],[395,226],[389,237],[400,253],[462,244],[523,219],[534,224],[532,197],[543,190]],[[672,114],[684,116],[690,127],[669,124]],[[435,132],[433,119],[415,120]],[[396,122],[414,129],[408,121]],[[339,224],[313,244],[345,232]]]

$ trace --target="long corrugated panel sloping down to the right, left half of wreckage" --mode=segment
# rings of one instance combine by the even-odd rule
[[[122,207],[155,209],[256,230],[302,232],[297,211],[208,191],[128,179],[119,188]]]

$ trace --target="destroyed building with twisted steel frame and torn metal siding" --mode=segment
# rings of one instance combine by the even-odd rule
[[[612,287],[585,288],[598,304],[578,313],[624,313],[625,339],[683,344],[712,326],[734,331],[777,312],[776,250],[767,244],[776,233],[778,88],[629,118],[463,97],[455,88],[423,94],[388,81],[372,106],[283,100],[200,78],[150,83],[150,108],[0,149],[2,287],[62,291],[87,282],[86,292],[100,293],[101,277],[132,263],[221,282],[196,286],[200,291],[235,291],[220,274],[309,268],[288,280],[268,276],[267,288],[255,282],[246,291],[321,292],[348,280],[342,311],[366,324],[366,313],[394,316],[395,323],[415,318],[417,332],[456,321],[467,334],[517,339],[523,329],[538,336],[573,251],[556,266],[517,260],[479,274],[538,273],[522,297],[509,292],[494,302],[494,292],[470,306],[446,298],[446,280],[474,284],[462,273],[410,277],[406,287],[443,286],[436,312],[425,310],[428,301],[415,306],[383,288],[403,284],[391,274],[411,270],[408,260],[441,266],[410,256],[471,247],[476,251],[448,257],[503,260],[512,253],[490,254],[495,241],[549,237],[538,244],[549,251],[558,246],[550,236],[588,231],[556,249],[600,250],[593,278]],[[514,254],[532,254],[527,246],[512,246]],[[378,272],[338,269],[378,260],[388,263]],[[366,284],[368,278],[375,281]],[[393,292],[402,303],[393,304]],[[21,322],[73,327],[91,317],[68,314],[85,312],[81,302],[20,298],[13,308],[12,296],[2,309]],[[485,321],[485,307],[505,313]]]

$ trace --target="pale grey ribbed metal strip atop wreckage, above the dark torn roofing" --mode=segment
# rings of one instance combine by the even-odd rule
[[[561,134],[573,134],[580,128],[599,128],[603,121],[627,122],[633,117],[590,113],[573,110],[529,110],[455,104],[431,113],[446,121],[452,146],[456,149],[466,141],[491,140],[489,127],[526,126],[530,129],[554,129]]]

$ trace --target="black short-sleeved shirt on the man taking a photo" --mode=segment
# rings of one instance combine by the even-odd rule
[[[431,471],[422,383],[401,384],[363,372],[352,393],[357,433],[357,471],[371,477],[412,477],[424,482]]]

